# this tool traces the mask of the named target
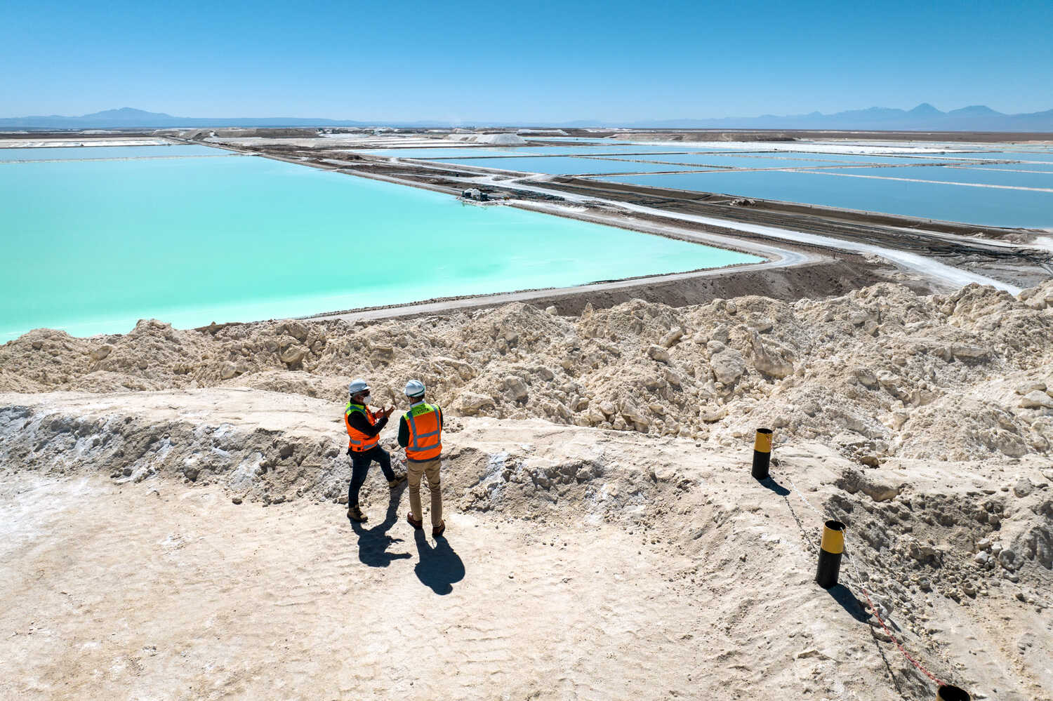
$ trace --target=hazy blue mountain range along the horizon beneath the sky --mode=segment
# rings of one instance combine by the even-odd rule
[[[474,126],[508,126],[503,122],[476,122]],[[177,126],[460,126],[442,121],[359,122],[300,117],[173,117],[132,107],[106,109],[82,117],[9,117],[0,119],[0,129],[90,129],[90,128],[164,128]],[[1053,109],[1021,115],[1005,115],[985,105],[971,105],[940,112],[928,102],[913,109],[870,107],[832,115],[813,112],[808,115],[763,115],[720,119],[667,119],[638,122],[574,121],[516,124],[516,126],[568,126],[609,128],[714,128],[714,129],[861,129],[905,132],[1053,132]]]

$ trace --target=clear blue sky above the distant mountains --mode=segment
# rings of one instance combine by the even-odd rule
[[[1053,2],[108,3],[0,8],[0,116],[632,121],[1053,107]]]

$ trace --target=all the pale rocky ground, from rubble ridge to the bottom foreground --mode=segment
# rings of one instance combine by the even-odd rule
[[[1050,699],[1053,286],[1021,297],[34,332],[0,347],[0,696],[933,698],[867,587],[937,677]],[[448,406],[444,540],[378,476],[344,518],[353,375]]]

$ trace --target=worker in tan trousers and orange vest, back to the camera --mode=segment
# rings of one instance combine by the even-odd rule
[[[405,448],[406,470],[410,477],[410,513],[405,520],[414,528],[424,525],[420,509],[420,478],[428,476],[432,493],[432,536],[438,538],[446,529],[442,520],[442,490],[439,486],[439,467],[442,456],[442,409],[436,404],[424,403],[424,383],[410,380],[405,383],[410,410],[398,422],[398,444]]]

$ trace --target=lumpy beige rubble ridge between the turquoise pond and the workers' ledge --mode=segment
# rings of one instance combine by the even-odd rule
[[[737,444],[756,425],[875,466],[889,457],[1005,460],[1053,446],[1053,281],[922,297],[892,284],[830,300],[763,297],[580,317],[525,304],[445,317],[264,322],[125,336],[40,329],[0,346],[0,390],[206,386],[344,401],[410,377],[464,416],[545,420]]]

